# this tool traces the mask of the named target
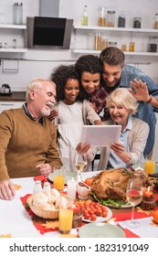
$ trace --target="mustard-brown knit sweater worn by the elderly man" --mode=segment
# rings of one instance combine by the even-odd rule
[[[0,114],[0,180],[37,176],[36,165],[61,165],[55,126],[44,126],[26,116],[23,109]]]

